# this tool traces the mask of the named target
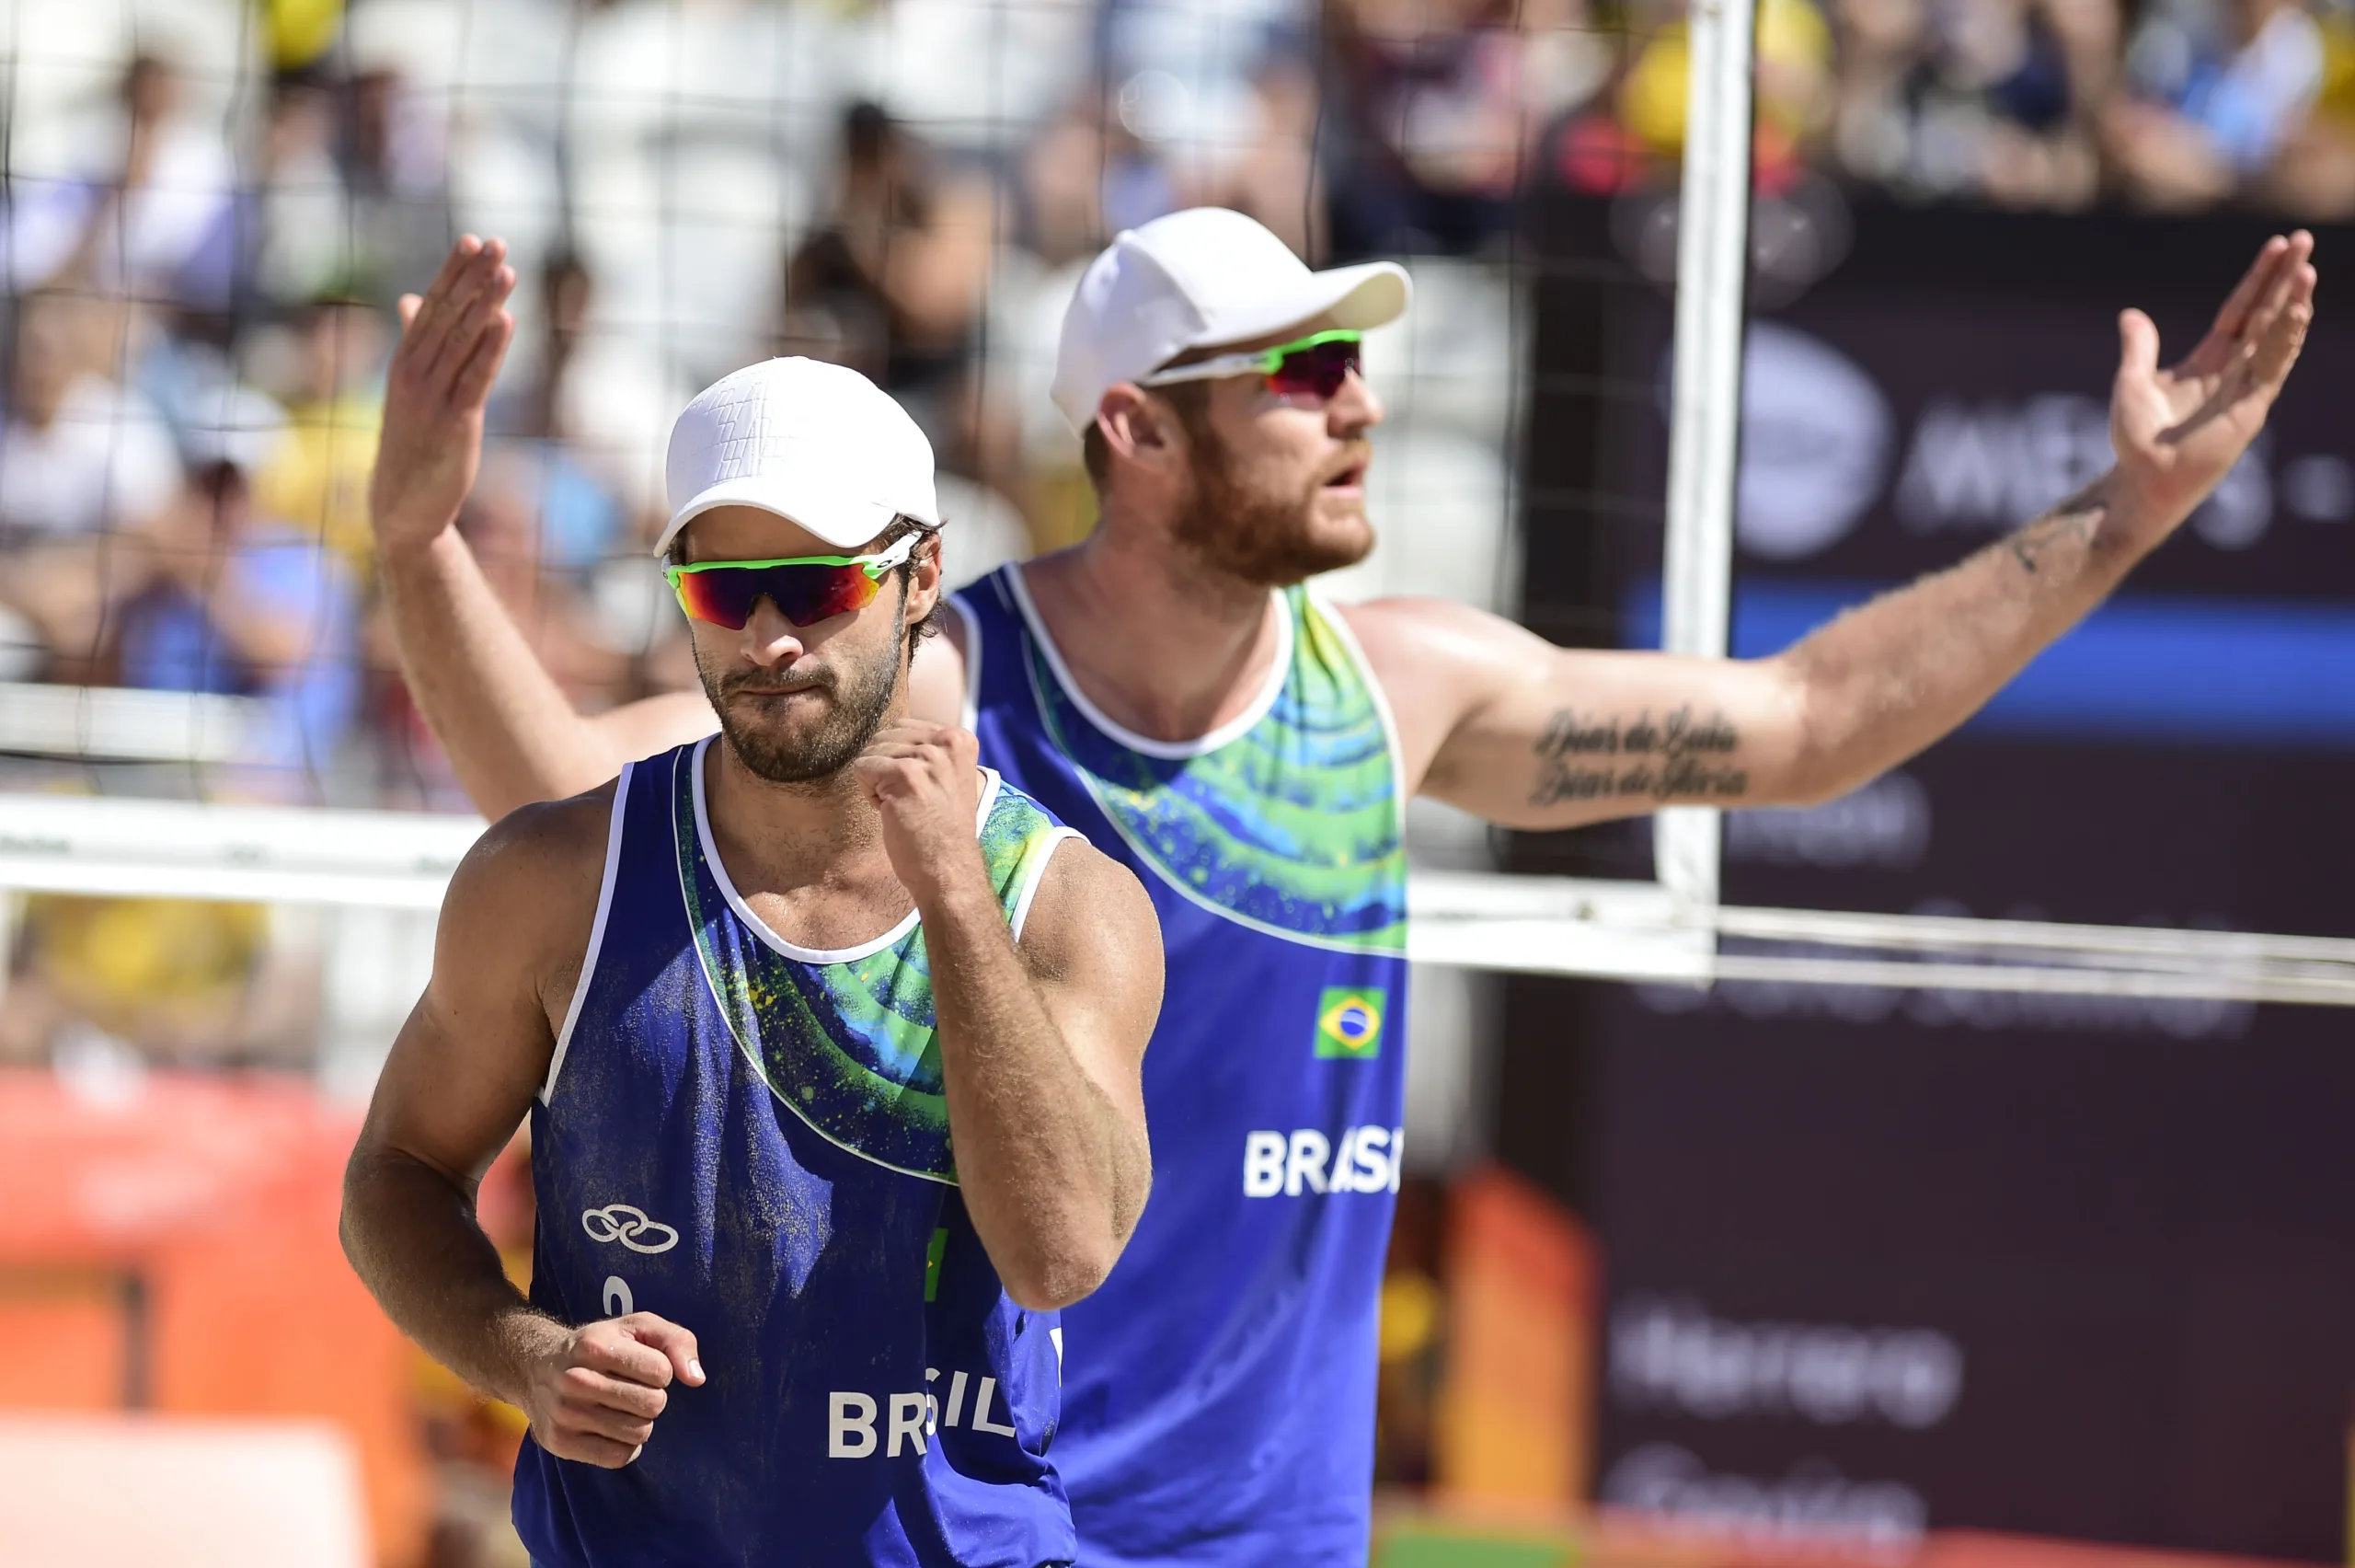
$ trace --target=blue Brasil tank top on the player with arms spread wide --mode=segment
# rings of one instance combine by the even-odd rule
[[[1397,737],[1305,589],[1239,720],[1166,744],[1097,713],[1017,567],[958,596],[982,760],[1152,892],[1154,1191],[1064,1309],[1055,1467],[1081,1561],[1366,1561],[1375,1321],[1406,1092]]]

